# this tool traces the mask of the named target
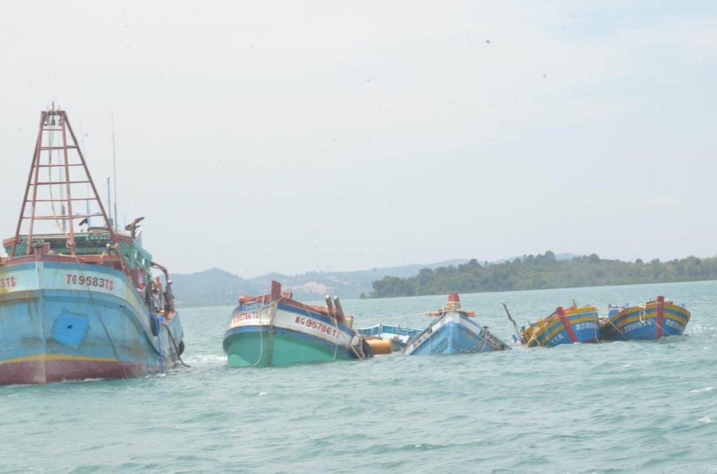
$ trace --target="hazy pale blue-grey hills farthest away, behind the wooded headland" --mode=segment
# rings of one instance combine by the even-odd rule
[[[220,306],[237,303],[239,295],[260,295],[266,293],[271,280],[277,280],[284,290],[294,293],[299,300],[322,300],[326,295],[341,298],[359,298],[361,293],[369,294],[373,282],[386,276],[410,278],[418,275],[422,268],[432,270],[468,262],[467,259],[445,260],[429,264],[412,264],[401,267],[374,268],[353,272],[306,272],[303,275],[281,275],[269,273],[257,278],[244,279],[219,268],[211,268],[189,275],[173,274],[174,294],[178,303],[185,307]]]

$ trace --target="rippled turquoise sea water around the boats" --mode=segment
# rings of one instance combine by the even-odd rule
[[[461,295],[504,341],[557,305],[692,313],[685,336],[232,369],[230,307],[181,308],[189,369],[0,387],[1,473],[717,472],[717,282]],[[446,296],[344,300],[355,326],[424,327]],[[414,316],[406,316],[406,315]]]

